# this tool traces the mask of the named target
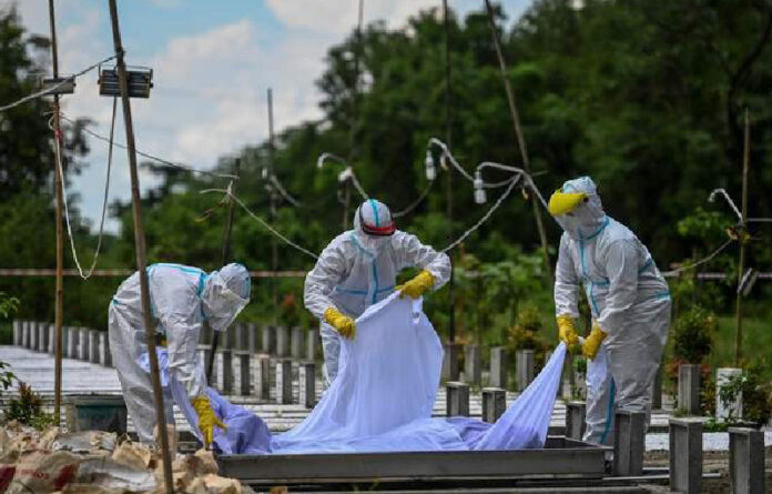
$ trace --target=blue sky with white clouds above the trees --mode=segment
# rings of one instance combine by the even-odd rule
[[[510,21],[531,0],[504,0]],[[0,0],[17,4],[30,32],[48,34],[48,0]],[[358,0],[119,0],[121,31],[131,64],[154,69],[150,100],[132,100],[138,147],[163,158],[209,169],[267,134],[266,90],[274,91],[278,130],[317,119],[314,81],[327,49],[355,27]],[[71,73],[113,52],[106,0],[57,0],[60,70]],[[461,14],[482,0],[450,0]],[[365,22],[385,20],[392,29],[440,0],[365,0]],[[64,102],[71,118],[94,120],[106,134],[110,100],[100,98],[94,72],[78,81]],[[120,108],[120,105],[119,105]],[[115,135],[123,141],[119,114]],[[89,167],[72,180],[82,214],[96,224],[102,204],[106,147],[91,142]],[[116,150],[111,200],[130,196],[126,155]],[[143,174],[142,186],[155,183]],[[116,222],[108,229],[115,231]]]

